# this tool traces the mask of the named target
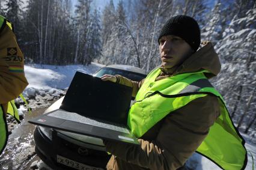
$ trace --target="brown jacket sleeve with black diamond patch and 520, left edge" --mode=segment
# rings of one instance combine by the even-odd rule
[[[5,25],[0,32],[0,103],[16,99],[27,85],[23,54],[13,31]]]

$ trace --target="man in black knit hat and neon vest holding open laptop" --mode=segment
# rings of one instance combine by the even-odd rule
[[[197,151],[222,169],[244,169],[245,141],[221,94],[208,79],[221,70],[212,43],[200,47],[200,28],[189,16],[167,20],[159,32],[162,65],[141,82],[104,75],[133,88],[127,125],[140,145],[103,140],[107,169],[178,169]]]

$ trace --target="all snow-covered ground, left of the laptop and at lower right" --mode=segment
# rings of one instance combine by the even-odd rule
[[[85,67],[83,65],[25,65],[25,74],[29,85],[23,94],[27,99],[34,98],[39,102],[41,99],[47,100],[52,96],[59,97],[59,95],[64,94],[63,90],[69,87],[76,71],[92,74],[103,66],[104,65],[96,63],[92,63],[91,65]],[[31,107],[35,108],[37,106],[38,105],[33,105]],[[22,110],[22,108],[20,110]],[[247,142],[247,150],[250,151],[254,159],[256,159],[256,144],[252,142],[248,135],[242,133],[242,136]],[[208,159],[200,156],[197,153],[195,153],[189,159],[187,165],[190,168],[197,170],[220,169],[214,163],[210,162]],[[252,157],[250,153],[248,153],[248,165],[246,166],[246,169],[252,169]]]

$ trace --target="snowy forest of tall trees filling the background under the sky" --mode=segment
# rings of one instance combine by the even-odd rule
[[[14,25],[26,64],[128,64],[147,73],[160,65],[157,37],[171,16],[194,17],[201,40],[213,43],[221,73],[211,79],[236,126],[256,136],[256,1],[0,0]]]

